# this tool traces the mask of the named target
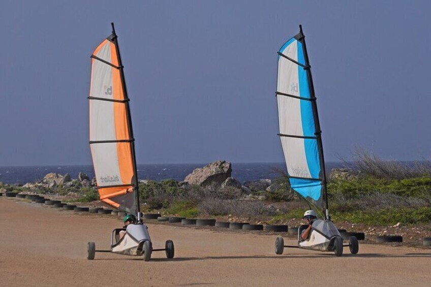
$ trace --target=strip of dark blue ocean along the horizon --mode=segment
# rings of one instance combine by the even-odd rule
[[[205,164],[153,164],[138,165],[139,179],[175,179],[182,181],[189,173],[196,168],[201,168]],[[326,173],[333,168],[342,167],[341,162],[326,163]],[[258,180],[262,178],[274,179],[280,175],[273,169],[278,168],[286,171],[284,163],[232,163],[232,177],[241,183],[245,181]],[[13,184],[25,184],[42,179],[47,173],[56,172],[59,174],[70,174],[72,178],[77,178],[79,172],[94,177],[93,166],[17,166],[0,167],[0,182]]]

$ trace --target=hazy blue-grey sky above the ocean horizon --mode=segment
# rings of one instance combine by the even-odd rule
[[[0,166],[91,164],[90,54],[115,22],[145,163],[282,162],[276,51],[306,36],[325,159],[431,156],[426,1],[2,1]]]

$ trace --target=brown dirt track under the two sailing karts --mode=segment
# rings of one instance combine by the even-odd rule
[[[154,252],[140,257],[96,253],[109,249],[121,221],[75,214],[0,198],[0,286],[429,286],[431,250],[360,245],[359,254],[285,249],[276,256],[273,235],[226,233],[149,224],[154,248],[175,243],[175,258]],[[285,240],[294,244],[294,240]]]

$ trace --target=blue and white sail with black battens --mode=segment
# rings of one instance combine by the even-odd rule
[[[310,66],[302,31],[278,52],[280,139],[291,188],[322,207],[323,151]],[[320,154],[322,153],[322,154]]]

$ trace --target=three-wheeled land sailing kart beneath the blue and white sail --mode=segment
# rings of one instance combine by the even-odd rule
[[[334,224],[329,219],[317,219],[312,225],[312,230],[309,238],[302,240],[301,233],[307,225],[302,225],[298,228],[298,245],[284,245],[283,237],[275,239],[275,254],[283,254],[284,247],[288,248],[303,248],[318,251],[333,251],[335,256],[343,255],[343,248],[349,247],[350,253],[356,254],[359,251],[358,239],[354,236],[349,238],[349,244],[343,243],[343,238],[340,232],[335,228]]]

